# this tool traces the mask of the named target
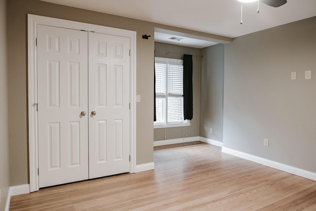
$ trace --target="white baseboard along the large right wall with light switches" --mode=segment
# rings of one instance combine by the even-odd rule
[[[234,156],[237,156],[239,158],[243,158],[243,159],[258,163],[258,164],[262,164],[264,166],[268,166],[268,167],[271,167],[274,169],[282,170],[282,171],[285,171],[288,173],[292,173],[292,174],[302,176],[304,178],[316,181],[316,173],[315,172],[307,171],[304,169],[298,169],[295,167],[291,167],[291,166],[288,166],[285,164],[277,163],[275,161],[260,158],[260,157],[254,156],[254,155],[250,155],[250,154],[243,153],[243,152],[233,150],[230,148],[226,148],[226,147],[222,147],[222,152],[230,154],[230,155],[234,155]]]

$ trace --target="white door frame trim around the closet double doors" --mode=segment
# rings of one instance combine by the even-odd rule
[[[37,26],[92,31],[130,39],[130,173],[136,172],[136,32],[58,18],[28,14],[28,132],[30,192],[39,190]]]

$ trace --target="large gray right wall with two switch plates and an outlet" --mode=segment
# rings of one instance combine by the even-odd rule
[[[224,79],[224,147],[316,172],[316,17],[226,44]]]

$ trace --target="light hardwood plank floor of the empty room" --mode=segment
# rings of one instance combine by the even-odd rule
[[[155,170],[14,196],[10,211],[316,211],[316,181],[190,144],[155,147]]]

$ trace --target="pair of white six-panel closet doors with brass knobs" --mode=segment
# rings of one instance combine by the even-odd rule
[[[39,187],[129,171],[129,39],[38,26]]]

